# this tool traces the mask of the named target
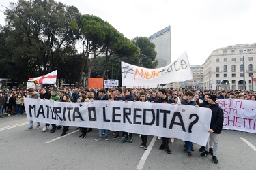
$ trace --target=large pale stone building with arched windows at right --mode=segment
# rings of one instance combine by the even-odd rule
[[[256,43],[214,50],[203,63],[203,87],[210,90],[251,90],[256,76]]]

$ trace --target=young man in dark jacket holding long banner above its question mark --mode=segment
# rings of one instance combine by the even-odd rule
[[[181,105],[193,105],[195,107],[199,107],[195,101],[193,101],[193,92],[191,91],[186,91],[185,94],[185,99],[180,102]],[[191,141],[185,141],[185,150],[184,152],[188,153],[189,158],[193,158],[193,155],[191,154],[192,150],[192,142]]]

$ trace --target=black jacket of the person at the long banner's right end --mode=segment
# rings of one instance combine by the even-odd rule
[[[212,129],[214,133],[219,134],[223,129],[223,109],[218,106],[218,103],[215,103],[214,105],[207,105],[207,107],[212,110],[210,129]]]

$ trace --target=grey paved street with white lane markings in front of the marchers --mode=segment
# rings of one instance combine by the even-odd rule
[[[25,115],[0,118],[0,169],[256,169],[255,133],[222,131],[216,165],[212,156],[199,156],[197,144],[193,144],[194,158],[188,158],[180,139],[169,144],[171,154],[167,154],[158,150],[161,141],[152,136],[148,150],[143,150],[137,134],[133,143],[121,143],[112,132],[109,141],[94,141],[98,129],[81,139],[75,127],[60,137],[62,129],[51,134],[42,132],[44,124],[25,131],[27,126]]]

